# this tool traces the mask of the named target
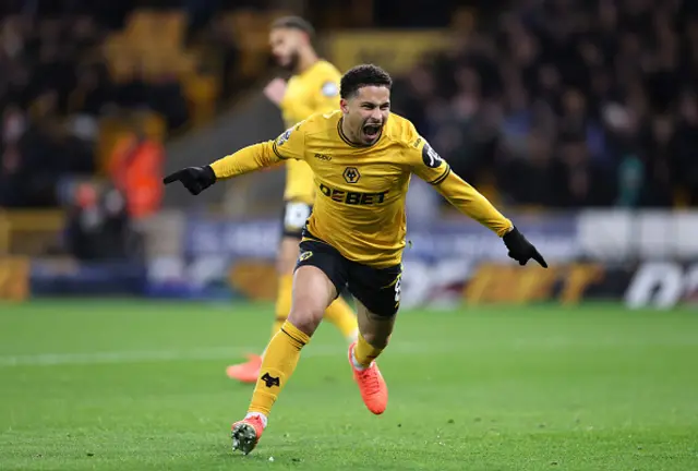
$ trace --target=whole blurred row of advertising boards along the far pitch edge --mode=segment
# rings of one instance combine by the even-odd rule
[[[613,301],[628,307],[670,309],[698,301],[696,215],[598,216],[513,217],[544,254],[549,269],[518,266],[497,237],[469,219],[411,224],[402,306]],[[275,299],[277,219],[189,215],[182,220],[179,249],[145,263],[0,259],[0,298],[31,293]]]

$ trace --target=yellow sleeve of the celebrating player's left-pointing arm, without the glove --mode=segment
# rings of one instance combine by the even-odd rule
[[[210,165],[217,180],[225,180],[264,167],[270,167],[287,159],[302,159],[304,134],[301,124],[289,128],[275,141],[267,141],[244,147],[234,154]]]

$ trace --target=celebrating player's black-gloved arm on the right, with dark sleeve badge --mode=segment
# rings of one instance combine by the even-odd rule
[[[434,185],[461,213],[496,232],[508,249],[508,256],[519,265],[526,265],[532,258],[547,268],[543,256],[512,221],[480,192],[452,172],[450,166],[426,142],[422,141],[412,148],[421,149],[421,155],[416,155],[412,164],[412,171],[418,177]]]

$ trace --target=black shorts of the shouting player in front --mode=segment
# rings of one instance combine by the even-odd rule
[[[309,237],[308,232],[305,233]],[[345,287],[369,311],[392,317],[400,305],[400,278],[402,265],[373,268],[347,259],[334,246],[320,240],[300,243],[300,256],[296,268],[311,265],[320,268],[341,293]]]

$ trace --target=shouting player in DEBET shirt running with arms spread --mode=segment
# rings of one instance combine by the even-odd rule
[[[314,113],[275,141],[165,178],[166,184],[179,181],[197,195],[219,180],[279,161],[303,161],[313,172],[317,196],[300,242],[290,313],[267,346],[248,414],[232,424],[233,448],[244,454],[257,445],[301,350],[345,288],[356,299],[359,323],[349,365],[365,407],[374,414],[385,411],[388,389],[376,359],[388,345],[399,307],[412,173],[501,237],[520,265],[533,259],[547,266],[509,219],[452,172],[409,120],[390,112],[390,87],[381,68],[354,67],[341,77],[338,110]]]

